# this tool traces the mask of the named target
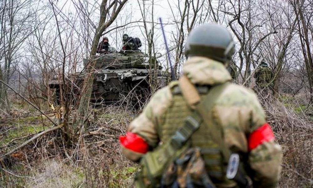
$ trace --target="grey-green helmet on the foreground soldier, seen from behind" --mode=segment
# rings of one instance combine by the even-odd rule
[[[219,24],[203,24],[192,29],[185,44],[185,55],[203,56],[227,64],[235,51],[233,37]]]

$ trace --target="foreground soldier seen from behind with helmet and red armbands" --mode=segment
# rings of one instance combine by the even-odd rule
[[[275,187],[282,153],[255,94],[229,83],[234,53],[218,24],[193,29],[184,75],[160,89],[120,137],[137,187]]]

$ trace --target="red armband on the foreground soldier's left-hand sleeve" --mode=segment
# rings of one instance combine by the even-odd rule
[[[120,136],[120,143],[126,149],[145,154],[148,151],[148,144],[144,139],[135,133],[126,133],[125,136]]]

